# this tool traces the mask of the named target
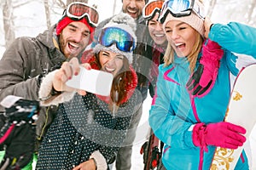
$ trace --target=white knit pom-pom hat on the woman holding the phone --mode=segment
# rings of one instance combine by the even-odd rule
[[[113,18],[108,22],[108,24],[106,24],[106,26],[104,26],[102,28],[102,31],[100,32],[100,35],[98,37],[99,39],[102,36],[102,34],[104,34],[103,30],[105,28],[119,28],[121,30],[126,31],[134,39],[133,44],[134,44],[134,48],[135,48],[136,43],[137,43],[137,37],[135,35],[136,23],[135,23],[135,20],[133,18],[131,18],[131,16],[129,14],[125,14],[125,13],[121,12],[117,15],[114,15]],[[100,43],[99,39],[98,39],[98,42],[96,42],[97,44],[96,44],[95,48],[93,48],[93,53],[97,54],[102,50],[109,50],[109,51],[112,51],[113,53],[118,53],[118,54],[124,55],[128,59],[129,63],[131,64],[132,53],[133,53],[132,51],[130,51],[130,52],[121,51],[121,50],[119,50],[119,48],[117,48],[117,44],[114,42],[111,46],[106,47]]]

